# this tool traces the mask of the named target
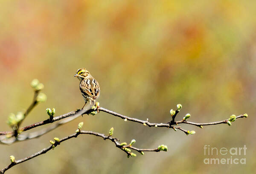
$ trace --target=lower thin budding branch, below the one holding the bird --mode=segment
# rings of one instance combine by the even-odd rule
[[[128,151],[125,151],[125,148],[131,148],[131,149],[133,149],[133,150],[135,150],[135,151],[138,151],[138,152],[142,152],[142,151],[154,151],[154,152],[159,152],[159,151],[160,151],[158,148],[156,148],[156,149],[140,149],[140,148],[134,148],[133,146],[125,146],[125,148],[124,148],[124,146],[121,146],[121,145],[120,145],[120,143],[118,142],[118,141],[119,141],[118,139],[113,138],[112,136],[105,136],[105,134],[103,134],[103,133],[97,133],[97,132],[92,132],[92,131],[80,131],[80,132],[78,132],[78,133],[74,133],[74,134],[72,134],[72,135],[70,135],[70,136],[67,136],[67,137],[65,137],[65,138],[63,138],[63,139],[60,139],[59,142],[56,142],[56,141],[55,141],[55,143],[54,143],[53,145],[56,147],[57,145],[60,145],[61,142],[64,142],[64,141],[66,141],[66,140],[68,140],[68,139],[71,139],[71,138],[76,138],[76,137],[79,136],[80,134],[95,135],[95,136],[102,137],[104,140],[109,139],[109,140],[111,140],[113,143],[115,143],[115,145],[116,145],[117,148],[121,149],[122,151],[124,151],[124,152],[125,152],[126,154],[128,154],[128,155],[130,155],[131,153],[128,152]],[[6,166],[6,168],[3,168],[3,169],[0,171],[0,174],[4,174],[8,169],[12,168],[13,166],[15,166],[15,165],[17,165],[17,164],[20,164],[20,163],[25,162],[25,161],[27,161],[27,160],[29,160],[29,159],[32,159],[32,158],[35,158],[35,157],[37,157],[37,156],[39,156],[39,155],[42,155],[42,154],[47,153],[49,150],[52,149],[52,146],[53,146],[53,145],[49,146],[48,148],[44,148],[43,150],[41,150],[41,151],[39,151],[39,152],[37,152],[37,153],[35,153],[35,154],[32,154],[32,155],[29,156],[29,157],[26,157],[26,158],[23,158],[23,159],[19,159],[19,160],[15,160],[15,161],[12,162],[10,165]]]

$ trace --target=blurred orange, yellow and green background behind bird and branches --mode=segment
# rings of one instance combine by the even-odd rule
[[[79,136],[6,173],[198,174],[253,173],[256,170],[256,1],[12,0],[0,5],[0,131],[10,131],[9,113],[26,109],[38,78],[47,102],[21,126],[81,108],[76,70],[85,67],[99,81],[100,105],[150,122],[169,122],[170,109],[190,121],[213,122],[248,113],[232,124],[148,128],[99,113],[79,117],[39,139],[0,145],[0,168],[48,147],[53,137],[84,130],[108,133],[136,146],[168,146],[168,152],[137,153],[127,159],[112,142]],[[45,126],[47,127],[47,126]],[[38,128],[37,130],[40,130]],[[35,131],[35,130],[34,130]],[[205,165],[204,145],[243,147],[246,165]],[[230,158],[226,156],[210,156]],[[235,156],[233,156],[235,158]]]

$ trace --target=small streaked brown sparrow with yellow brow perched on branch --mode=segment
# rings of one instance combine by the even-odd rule
[[[99,106],[96,103],[96,99],[99,97],[100,93],[98,81],[96,81],[96,79],[93,78],[90,72],[87,71],[85,68],[78,69],[74,77],[77,77],[80,81],[79,87],[84,98],[85,104],[87,104],[87,102],[90,102],[90,105],[92,107],[96,104],[97,110],[99,112]],[[84,109],[84,106],[81,110]]]

